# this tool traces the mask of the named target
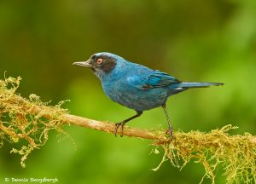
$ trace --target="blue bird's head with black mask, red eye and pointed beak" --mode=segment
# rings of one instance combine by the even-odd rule
[[[96,75],[111,72],[124,58],[108,52],[91,55],[88,60],[74,62],[73,65],[88,67]]]

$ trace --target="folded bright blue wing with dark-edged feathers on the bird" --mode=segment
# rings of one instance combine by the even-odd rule
[[[171,83],[181,83],[177,78],[158,70],[142,73],[143,75],[135,75],[127,78],[128,83],[138,89],[153,89],[165,87]]]

